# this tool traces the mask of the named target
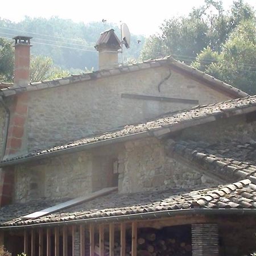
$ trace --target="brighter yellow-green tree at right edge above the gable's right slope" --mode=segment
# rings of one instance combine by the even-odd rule
[[[255,22],[241,22],[223,44],[220,54],[204,49],[192,65],[249,94],[256,94]]]

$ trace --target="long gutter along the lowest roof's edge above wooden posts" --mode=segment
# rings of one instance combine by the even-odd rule
[[[81,220],[69,220],[61,222],[44,222],[38,224],[28,225],[15,225],[15,226],[0,226],[0,229],[24,229],[24,228],[40,228],[44,226],[62,226],[62,225],[77,225],[77,224],[90,224],[90,223],[109,223],[109,222],[122,222],[122,221],[139,221],[139,220],[154,220],[156,218],[175,217],[177,215],[196,215],[205,214],[207,216],[213,215],[250,215],[256,214],[256,209],[179,209],[179,210],[161,210],[157,212],[147,213],[135,213],[125,214],[121,216],[108,216],[108,217],[96,217],[96,218],[85,218]]]

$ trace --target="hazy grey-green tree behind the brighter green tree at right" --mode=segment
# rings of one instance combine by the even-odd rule
[[[221,1],[205,0],[188,16],[165,20],[160,34],[152,35],[142,49],[142,59],[172,55],[191,63],[204,48],[221,52],[222,45],[243,20],[255,19],[252,7],[242,0],[234,1],[225,12]]]

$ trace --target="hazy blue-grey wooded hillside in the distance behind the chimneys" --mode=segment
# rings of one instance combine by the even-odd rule
[[[3,29],[11,28],[11,30]],[[61,19],[58,17],[29,18],[18,23],[0,19],[0,36],[8,33],[13,37],[18,34],[32,36],[31,48],[33,55],[49,56],[55,65],[64,69],[97,69],[98,52],[94,46],[100,37],[100,33],[114,28],[119,35],[119,26],[112,23],[91,22],[76,23],[71,19]],[[28,32],[20,32],[28,31]],[[141,40],[138,44],[137,39]],[[144,36],[131,35],[131,46],[126,51],[125,57],[138,59],[144,44]]]

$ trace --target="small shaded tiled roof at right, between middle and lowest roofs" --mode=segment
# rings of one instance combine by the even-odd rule
[[[216,143],[179,141],[174,151],[224,180],[250,179],[256,183],[256,141]]]

